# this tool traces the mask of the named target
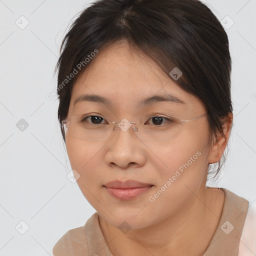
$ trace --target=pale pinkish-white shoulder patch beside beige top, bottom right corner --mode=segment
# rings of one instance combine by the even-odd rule
[[[256,253],[256,201],[249,204],[239,242],[238,256],[254,256]]]

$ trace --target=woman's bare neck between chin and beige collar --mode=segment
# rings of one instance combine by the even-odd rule
[[[203,254],[222,212],[223,200],[216,200],[222,191],[216,190],[203,187],[174,215],[126,234],[99,217],[110,251],[114,256]]]

